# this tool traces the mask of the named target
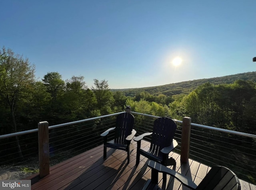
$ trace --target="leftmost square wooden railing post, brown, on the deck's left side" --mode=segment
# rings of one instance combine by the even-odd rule
[[[50,174],[49,124],[47,121],[38,123],[38,152],[40,178]]]

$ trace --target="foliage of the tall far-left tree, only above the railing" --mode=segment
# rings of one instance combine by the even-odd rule
[[[3,110],[2,114],[6,115],[4,121],[0,122],[8,127],[8,129],[2,129],[3,131],[19,130],[17,120],[22,115],[24,104],[30,101],[34,71],[34,65],[31,65],[28,59],[15,54],[11,49],[6,50],[3,47],[0,50],[0,106],[2,106],[0,110]]]

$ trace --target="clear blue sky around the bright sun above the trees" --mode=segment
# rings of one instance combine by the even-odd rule
[[[0,47],[62,79],[139,88],[256,71],[256,0],[0,0]],[[172,60],[180,57],[179,66]]]

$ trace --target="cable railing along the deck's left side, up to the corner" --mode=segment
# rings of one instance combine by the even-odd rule
[[[115,125],[120,113],[48,126],[50,165],[101,145],[100,134]],[[39,171],[38,129],[0,135],[0,144],[0,176],[8,169],[18,170],[20,176],[4,175],[16,180]]]

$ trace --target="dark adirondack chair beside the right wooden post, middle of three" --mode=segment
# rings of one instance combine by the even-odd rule
[[[168,158],[169,153],[178,145],[173,139],[176,127],[176,123],[171,118],[158,118],[154,121],[152,133],[144,133],[135,137],[134,141],[137,141],[136,165],[140,163],[140,155],[165,166],[176,164],[174,159]],[[152,135],[150,147],[140,147],[141,140],[147,135]]]

